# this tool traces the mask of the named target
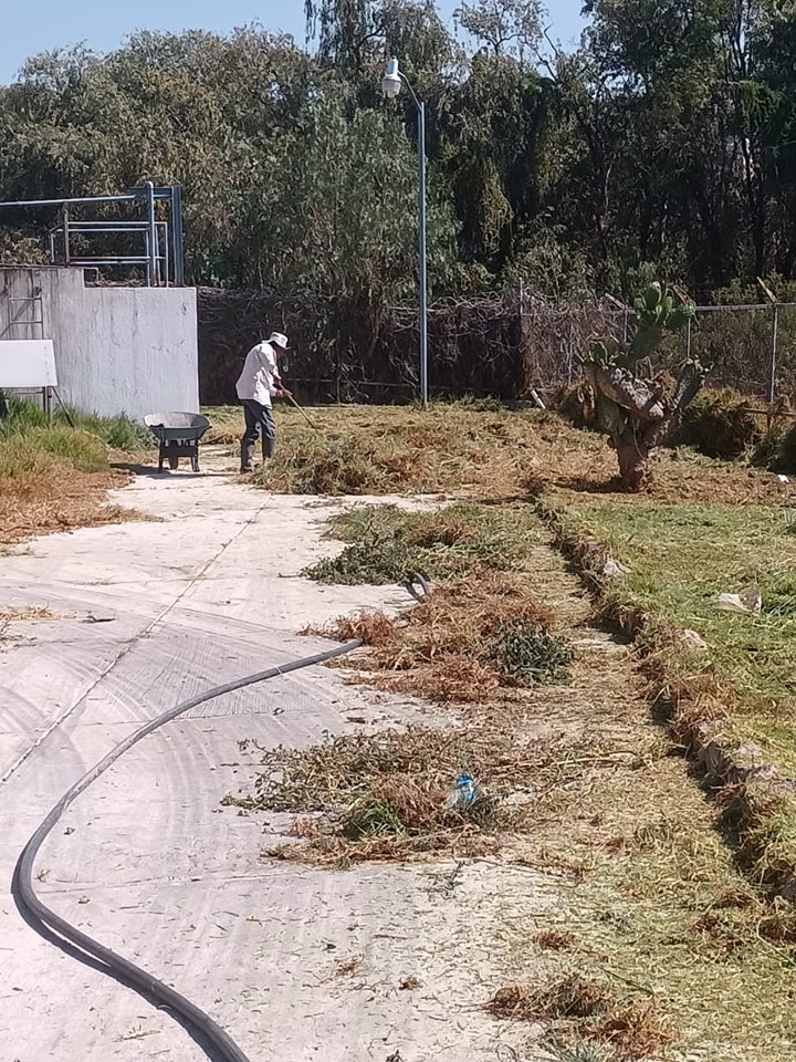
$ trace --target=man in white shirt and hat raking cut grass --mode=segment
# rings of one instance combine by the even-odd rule
[[[290,397],[279,372],[279,360],[286,350],[287,337],[281,332],[272,332],[268,340],[249,351],[243,372],[238,377],[235,391],[243,403],[245,418],[245,431],[241,436],[241,472],[252,471],[258,436],[262,438],[263,461],[273,457],[276,426],[271,400]]]

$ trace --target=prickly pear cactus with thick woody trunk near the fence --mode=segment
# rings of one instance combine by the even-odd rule
[[[625,490],[640,490],[649,457],[674,431],[702,386],[704,368],[687,361],[674,388],[652,374],[651,357],[667,332],[679,332],[694,314],[694,304],[679,291],[650,284],[636,299],[636,334],[631,342],[597,336],[582,360],[594,392],[599,426],[610,437]]]

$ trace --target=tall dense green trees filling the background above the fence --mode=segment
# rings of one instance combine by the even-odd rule
[[[190,281],[378,316],[416,288],[416,110],[378,87],[395,54],[427,103],[434,295],[796,274],[795,3],[587,0],[575,52],[536,0],[470,0],[450,28],[432,0],[306,8],[306,51],[248,28],[31,59],[0,87],[0,198],[179,183]],[[3,220],[0,260],[55,218]]]

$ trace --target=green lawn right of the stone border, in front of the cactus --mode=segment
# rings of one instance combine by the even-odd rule
[[[573,514],[573,510],[569,510]],[[611,593],[708,643],[701,664],[736,695],[731,730],[796,772],[796,510],[765,506],[578,499],[578,525],[629,565]],[[716,610],[721,593],[758,585],[760,615]]]

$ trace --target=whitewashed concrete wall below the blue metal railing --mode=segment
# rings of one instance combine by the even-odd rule
[[[193,288],[86,288],[81,269],[0,269],[0,340],[25,339],[53,341],[59,394],[84,413],[199,409]]]

